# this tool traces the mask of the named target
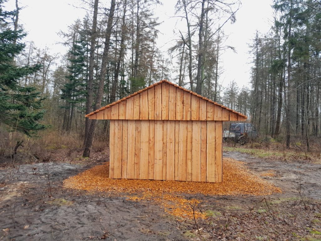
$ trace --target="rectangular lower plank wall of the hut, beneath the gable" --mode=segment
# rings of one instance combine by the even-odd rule
[[[222,122],[111,120],[109,175],[221,182]]]

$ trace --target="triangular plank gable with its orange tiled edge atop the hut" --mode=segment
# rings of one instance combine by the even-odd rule
[[[86,115],[100,120],[245,121],[246,115],[162,80]]]

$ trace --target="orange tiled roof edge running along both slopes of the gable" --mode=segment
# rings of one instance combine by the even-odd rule
[[[100,111],[102,111],[102,110],[105,110],[105,109],[107,109],[107,108],[109,108],[109,107],[111,107],[111,106],[113,106],[113,105],[115,105],[115,104],[118,104],[118,103],[120,103],[120,102],[123,102],[123,101],[125,101],[125,100],[127,100],[127,99],[129,99],[129,98],[131,98],[131,97],[133,97],[133,96],[135,96],[135,95],[137,95],[137,94],[140,94],[140,93],[142,93],[142,92],[144,92],[144,91],[146,91],[146,90],[148,90],[148,89],[151,89],[151,88],[155,87],[156,85],[160,85],[160,84],[162,84],[162,83],[168,83],[169,85],[173,85],[173,86],[177,87],[178,89],[181,89],[181,90],[183,90],[183,91],[186,91],[186,92],[188,92],[188,93],[190,93],[190,94],[195,95],[195,96],[198,97],[198,98],[202,98],[203,100],[206,100],[206,101],[208,101],[208,102],[210,102],[210,103],[213,103],[213,104],[215,104],[215,105],[217,105],[217,106],[220,106],[220,107],[223,108],[223,109],[226,109],[226,110],[228,110],[228,111],[231,111],[231,112],[233,112],[233,113],[236,113],[236,114],[238,114],[238,115],[240,115],[240,116],[242,116],[242,117],[247,117],[246,115],[244,115],[244,114],[242,114],[242,113],[240,113],[240,112],[236,112],[236,111],[234,111],[234,110],[232,110],[232,109],[230,109],[230,108],[228,108],[228,107],[226,107],[226,106],[224,106],[224,105],[221,105],[221,104],[219,104],[219,103],[217,103],[217,102],[214,102],[214,101],[212,101],[212,100],[210,100],[210,99],[208,99],[208,98],[206,98],[206,97],[204,97],[204,96],[202,96],[202,95],[200,95],[200,94],[197,94],[197,93],[195,93],[195,92],[193,92],[193,91],[191,91],[191,90],[185,89],[185,88],[183,88],[182,86],[176,85],[176,84],[168,81],[167,79],[163,79],[163,80],[161,80],[161,81],[159,81],[159,82],[156,82],[156,83],[154,83],[154,84],[152,84],[152,85],[150,85],[150,86],[147,86],[147,87],[145,87],[145,88],[143,88],[143,89],[141,89],[141,90],[139,90],[139,91],[136,91],[136,92],[134,92],[133,94],[130,94],[130,95],[128,95],[128,96],[126,96],[126,97],[124,97],[124,98],[122,98],[122,99],[119,99],[119,100],[117,100],[117,101],[114,101],[113,103],[110,103],[110,104],[108,104],[108,105],[106,105],[106,106],[103,106],[103,107],[101,107],[100,109],[98,109],[98,110],[96,110],[96,111],[90,112],[90,113],[86,114],[85,117],[89,117],[89,116],[91,116],[91,115],[93,115],[93,114],[95,114],[95,113],[97,113],[97,112],[100,112]]]

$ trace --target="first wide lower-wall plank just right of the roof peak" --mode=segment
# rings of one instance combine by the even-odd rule
[[[167,121],[167,165],[166,180],[174,180],[175,121]]]

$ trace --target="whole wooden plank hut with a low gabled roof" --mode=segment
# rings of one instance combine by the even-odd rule
[[[222,182],[222,121],[245,115],[162,80],[87,114],[110,120],[110,178]]]

